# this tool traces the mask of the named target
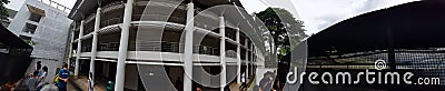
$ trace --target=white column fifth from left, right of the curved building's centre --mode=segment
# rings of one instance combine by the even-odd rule
[[[224,17],[219,17],[219,63],[221,64],[221,77],[219,84],[221,85],[220,91],[224,91],[226,87],[226,28],[224,24]]]

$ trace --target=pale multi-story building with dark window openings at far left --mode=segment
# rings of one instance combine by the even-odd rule
[[[67,18],[70,9],[57,2],[26,0],[14,16],[8,29],[33,47],[32,64],[41,61],[49,69],[50,82],[56,68],[66,61],[69,27],[72,20]],[[30,65],[28,73],[32,72]]]

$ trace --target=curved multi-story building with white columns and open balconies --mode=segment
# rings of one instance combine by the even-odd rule
[[[238,0],[78,0],[70,63],[117,91],[222,90],[264,67],[246,14]]]

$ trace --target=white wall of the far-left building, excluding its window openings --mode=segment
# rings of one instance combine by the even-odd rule
[[[44,10],[44,17],[40,19],[40,22],[28,20],[31,12],[27,4]],[[22,34],[32,38],[32,41],[36,42],[32,46],[32,58],[63,60],[69,37],[69,27],[72,22],[67,16],[67,12],[39,0],[26,0],[8,29],[16,36]],[[33,34],[22,31],[27,22],[38,26]]]

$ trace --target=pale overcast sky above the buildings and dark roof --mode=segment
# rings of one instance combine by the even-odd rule
[[[19,10],[24,0],[10,0],[7,8]],[[48,1],[48,0],[43,0]],[[76,0],[52,0],[72,8]],[[303,20],[306,33],[319,32],[339,21],[359,16],[366,12],[389,8],[393,6],[417,0],[240,0],[247,12],[258,12],[268,6],[280,7],[289,10],[294,16]]]

